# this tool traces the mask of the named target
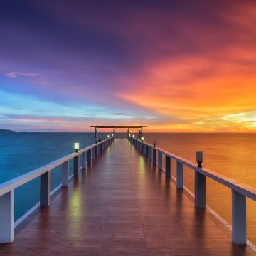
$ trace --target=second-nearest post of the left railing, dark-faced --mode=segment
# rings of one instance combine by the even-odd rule
[[[40,206],[50,206],[50,171],[40,176]]]

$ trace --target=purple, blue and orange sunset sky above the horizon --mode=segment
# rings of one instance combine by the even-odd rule
[[[0,2],[0,129],[256,132],[256,1]]]

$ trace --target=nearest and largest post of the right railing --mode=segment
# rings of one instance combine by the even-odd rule
[[[232,242],[246,244],[246,197],[232,190]]]

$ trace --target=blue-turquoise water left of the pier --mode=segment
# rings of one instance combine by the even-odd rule
[[[94,143],[92,133],[1,133],[0,183],[70,154],[74,142],[80,148]],[[70,161],[70,174],[73,163]],[[52,171],[52,190],[60,184],[60,167]],[[39,178],[14,191],[14,220],[39,201]]]

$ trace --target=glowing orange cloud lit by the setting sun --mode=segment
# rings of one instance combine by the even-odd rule
[[[234,60],[235,53],[239,59]],[[256,68],[244,64],[255,58],[256,53],[235,48],[225,51],[223,61],[193,57],[154,63],[132,78],[131,90],[119,97],[179,120],[158,127],[164,131],[256,130],[254,124],[223,119],[256,110]]]

